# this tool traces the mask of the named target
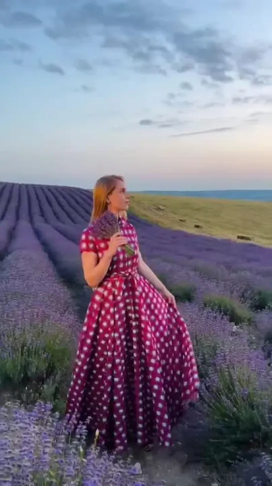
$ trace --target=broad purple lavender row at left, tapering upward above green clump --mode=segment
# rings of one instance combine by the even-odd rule
[[[73,335],[81,328],[69,291],[43,251],[31,225],[18,224],[12,252],[1,263],[0,331],[59,324]]]

